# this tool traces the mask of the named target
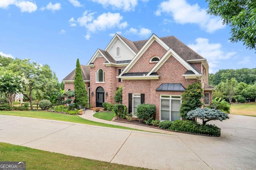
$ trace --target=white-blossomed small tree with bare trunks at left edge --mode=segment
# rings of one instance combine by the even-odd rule
[[[16,93],[22,92],[28,81],[23,75],[14,73],[12,70],[2,69],[0,72],[0,92],[4,92],[10,106],[13,107]]]

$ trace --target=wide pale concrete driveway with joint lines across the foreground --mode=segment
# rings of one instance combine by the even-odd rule
[[[255,169],[256,117],[230,115],[226,121],[211,123],[221,127],[221,137],[0,115],[0,141],[151,169]]]

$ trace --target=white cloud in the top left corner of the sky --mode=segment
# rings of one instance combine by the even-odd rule
[[[0,0],[0,8],[8,8],[10,5],[15,5],[20,8],[21,12],[35,12],[36,4],[28,0]]]

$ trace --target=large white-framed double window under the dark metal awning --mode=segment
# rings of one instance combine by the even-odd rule
[[[160,120],[180,120],[181,96],[160,96]]]

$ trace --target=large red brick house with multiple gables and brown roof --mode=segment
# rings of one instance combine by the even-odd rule
[[[81,65],[89,102],[101,107],[115,103],[114,92],[123,86],[123,104],[136,116],[139,104],[156,105],[156,119],[180,119],[181,94],[189,84],[201,82],[204,104],[212,101],[207,60],[174,36],[130,41],[114,35],[106,49],[98,49],[88,64]],[[73,70],[62,81],[74,90]]]

